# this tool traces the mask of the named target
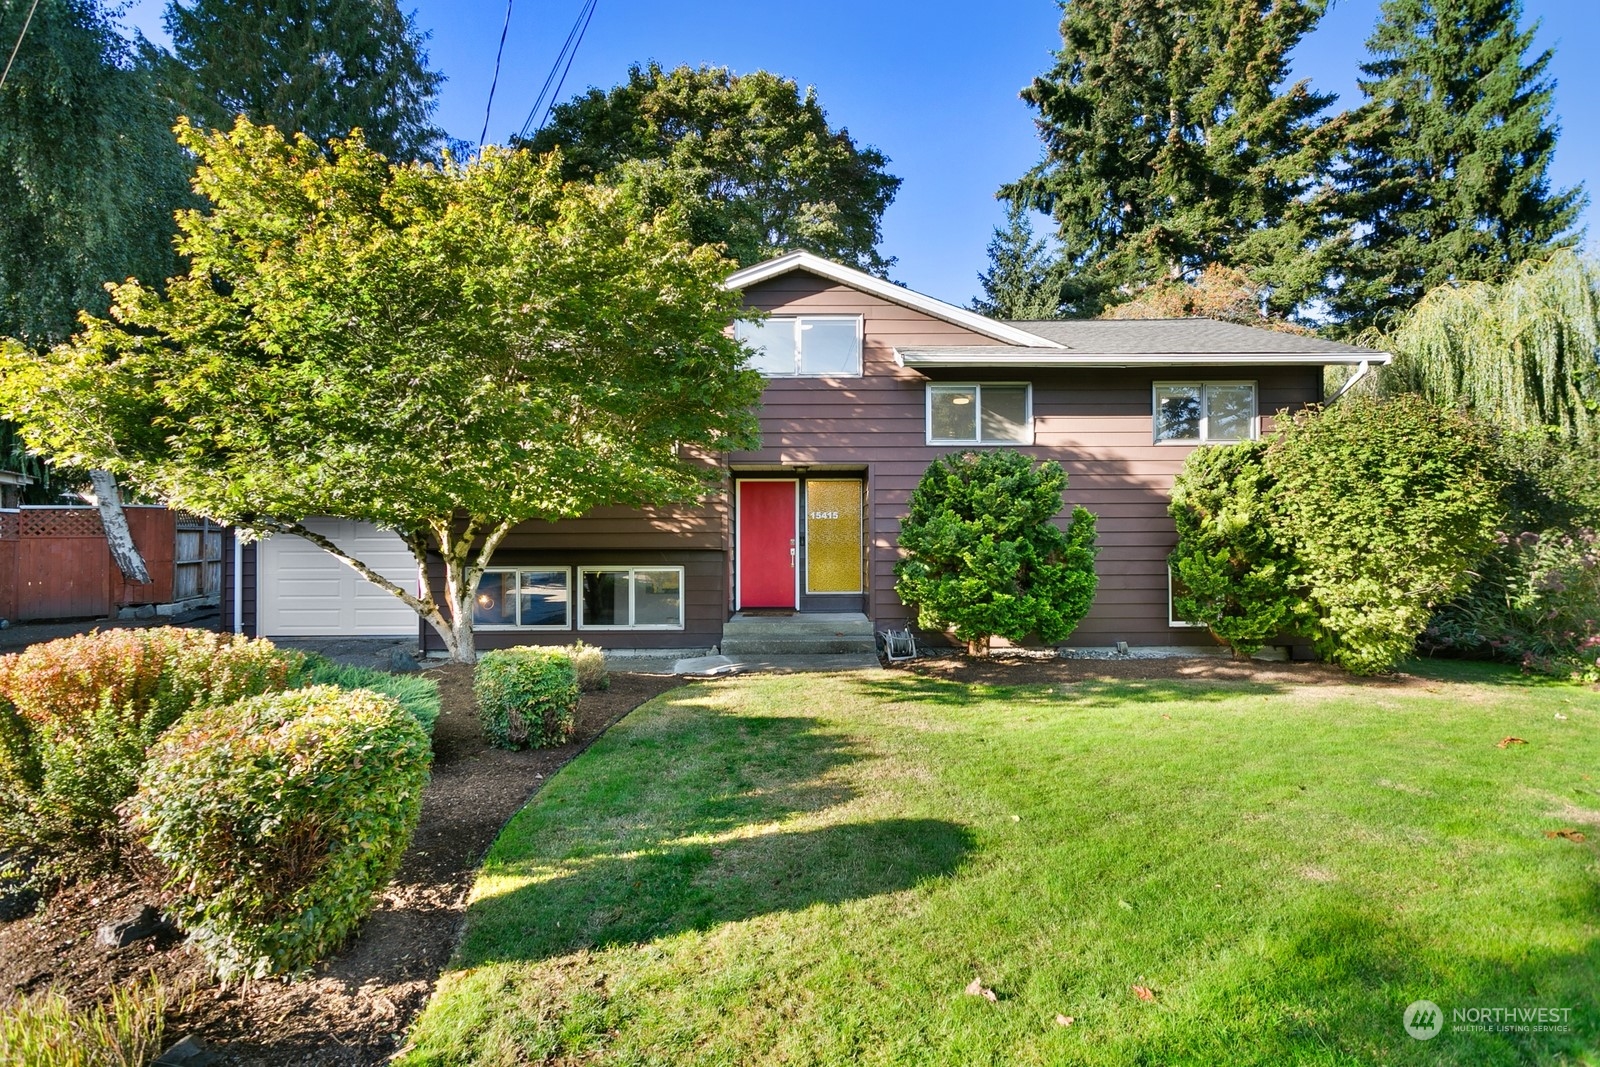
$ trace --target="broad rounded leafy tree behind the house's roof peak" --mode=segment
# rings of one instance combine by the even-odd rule
[[[696,242],[741,266],[803,248],[885,274],[883,210],[901,179],[888,160],[834,130],[816,99],[776,74],[632,67],[627,82],[558,104],[528,142],[562,149],[574,181],[626,181],[650,205],[677,205]]]

